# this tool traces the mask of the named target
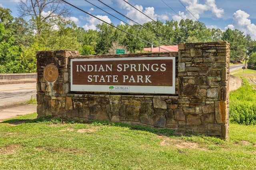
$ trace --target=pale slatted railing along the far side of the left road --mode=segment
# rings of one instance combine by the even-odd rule
[[[37,73],[0,74],[0,80],[36,79]]]

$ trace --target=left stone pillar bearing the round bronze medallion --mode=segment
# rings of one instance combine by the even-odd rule
[[[37,55],[37,113],[43,116],[66,116],[67,97],[70,92],[69,57],[77,56],[77,51],[38,51]],[[54,66],[58,71],[53,80],[47,81],[44,68]],[[51,70],[50,70],[51,71]],[[54,75],[52,76],[54,77]],[[49,79],[52,79],[49,76]]]

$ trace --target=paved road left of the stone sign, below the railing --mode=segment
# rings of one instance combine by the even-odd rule
[[[0,85],[0,107],[20,104],[36,98],[36,83]]]

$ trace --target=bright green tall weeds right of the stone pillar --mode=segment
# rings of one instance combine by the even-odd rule
[[[256,90],[243,78],[243,86],[230,92],[230,122],[243,125],[256,125]]]

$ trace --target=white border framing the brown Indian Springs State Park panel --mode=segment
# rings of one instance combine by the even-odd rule
[[[130,86],[129,92],[109,92],[109,93],[149,93],[149,94],[175,94],[176,78],[176,58],[175,57],[129,57],[129,58],[99,58],[99,59],[70,59],[70,91],[71,92],[109,92],[108,85],[81,85],[73,82],[73,62],[74,61],[127,61],[127,60],[173,60],[172,62],[172,86]],[[113,85],[115,86],[115,85]],[[117,86],[117,85],[116,85]],[[118,85],[119,86],[119,85]],[[125,85],[123,85],[125,86]]]

